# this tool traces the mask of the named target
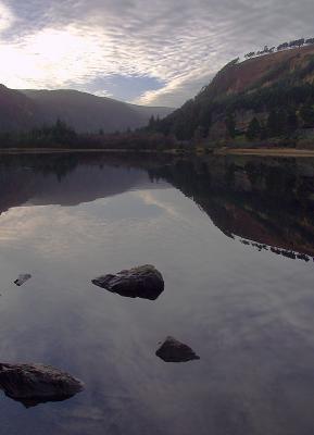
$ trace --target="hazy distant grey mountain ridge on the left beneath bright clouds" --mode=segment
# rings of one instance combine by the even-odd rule
[[[0,132],[26,130],[58,119],[77,133],[138,128],[173,109],[142,107],[77,90],[12,90],[0,86]]]

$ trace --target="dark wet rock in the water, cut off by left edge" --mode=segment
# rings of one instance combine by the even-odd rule
[[[29,408],[66,400],[81,391],[84,384],[50,365],[0,363],[0,388],[5,396]]]

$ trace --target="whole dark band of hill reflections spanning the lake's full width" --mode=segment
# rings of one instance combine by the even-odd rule
[[[25,203],[75,206],[168,183],[227,237],[291,259],[314,257],[312,159],[3,156],[0,179],[0,213]]]

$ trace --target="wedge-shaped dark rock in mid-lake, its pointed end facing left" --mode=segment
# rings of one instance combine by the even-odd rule
[[[164,290],[162,274],[150,264],[104,275],[92,279],[92,284],[128,298],[155,300]]]

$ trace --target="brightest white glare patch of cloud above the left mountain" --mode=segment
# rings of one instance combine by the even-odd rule
[[[7,60],[1,67],[2,80],[13,88],[65,86],[73,77],[85,82],[91,65],[84,55],[92,57],[96,47],[92,38],[71,27],[46,28],[18,45],[0,44],[0,55]]]

